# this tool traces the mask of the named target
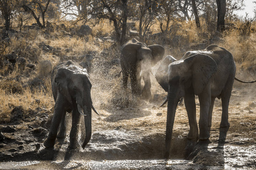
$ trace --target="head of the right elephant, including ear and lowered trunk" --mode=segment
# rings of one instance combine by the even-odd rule
[[[180,98],[184,97],[187,91],[193,95],[201,94],[216,70],[216,62],[205,54],[195,54],[168,66],[166,158],[170,152],[175,112]]]

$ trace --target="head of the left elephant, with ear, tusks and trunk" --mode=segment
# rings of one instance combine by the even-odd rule
[[[85,70],[77,69],[77,67],[71,65],[57,70],[54,84],[57,92],[62,94],[72,106],[73,112],[78,111],[84,116],[86,134],[82,144],[82,148],[84,148],[92,135],[92,109],[95,111],[90,96],[92,84],[90,83],[89,75]]]

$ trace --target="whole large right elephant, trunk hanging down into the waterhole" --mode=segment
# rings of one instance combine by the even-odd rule
[[[189,120],[188,139],[209,139],[212,126],[212,111],[216,97],[222,102],[220,127],[229,127],[228,108],[232,92],[236,64],[228,50],[210,45],[205,50],[187,52],[179,61],[168,66],[168,107],[166,124],[166,154],[171,145],[175,112],[181,97],[184,97]],[[166,83],[166,82],[165,82]],[[200,101],[199,130],[196,121],[195,95]]]

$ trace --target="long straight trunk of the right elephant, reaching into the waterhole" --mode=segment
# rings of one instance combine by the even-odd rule
[[[174,128],[174,118],[176,113],[179,97],[177,96],[177,88],[169,87],[168,90],[168,107],[167,107],[167,122],[166,122],[166,153],[164,158],[168,159],[171,148],[172,129]]]

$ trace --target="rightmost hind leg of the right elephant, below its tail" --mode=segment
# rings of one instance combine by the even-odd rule
[[[233,83],[230,83],[233,86]],[[221,114],[221,128],[229,127],[229,99],[232,92],[232,86],[225,87],[221,92],[221,104],[222,104],[222,114]]]

